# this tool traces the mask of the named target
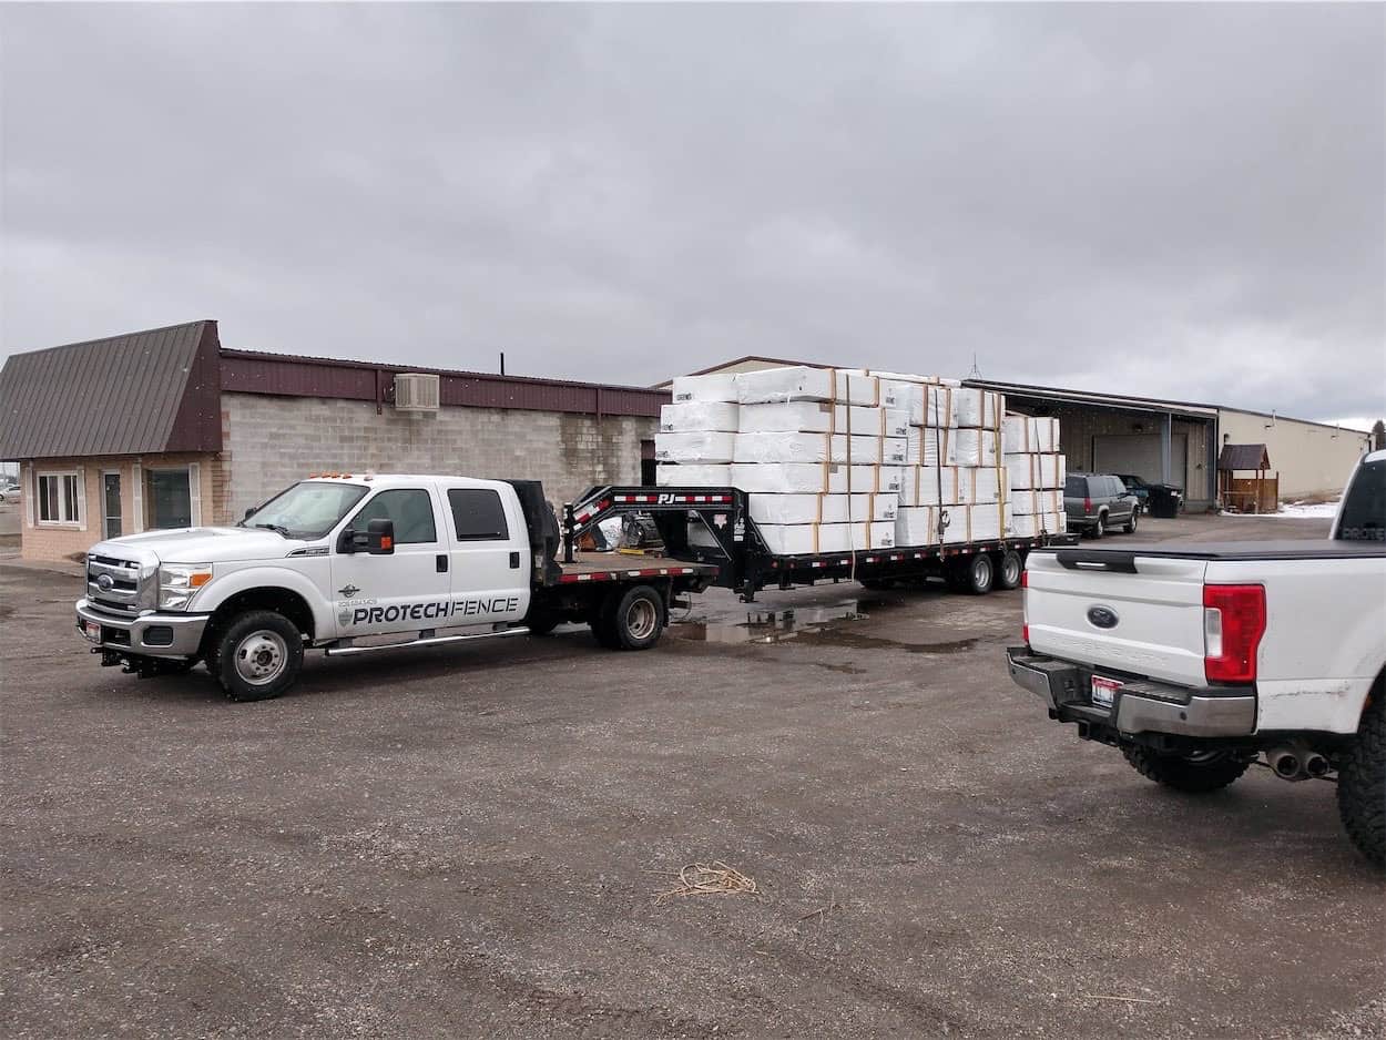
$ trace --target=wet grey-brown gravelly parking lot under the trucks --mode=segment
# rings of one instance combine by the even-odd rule
[[[100,668],[78,593],[0,566],[8,1037],[1386,1023],[1332,785],[1191,800],[1080,743],[1006,678],[1019,593],[718,592],[650,653],[312,656],[259,704]],[[711,860],[760,893],[657,901]]]

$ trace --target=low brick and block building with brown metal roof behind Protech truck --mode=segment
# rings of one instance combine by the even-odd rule
[[[25,559],[225,524],[319,470],[542,480],[554,503],[653,483],[669,395],[220,345],[216,322],[12,355],[0,459],[19,462]]]

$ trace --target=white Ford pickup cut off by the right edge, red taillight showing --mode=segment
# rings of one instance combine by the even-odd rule
[[[1006,656],[1049,718],[1185,792],[1263,754],[1288,781],[1336,774],[1349,836],[1386,863],[1386,451],[1328,541],[1037,549],[1023,585]]]

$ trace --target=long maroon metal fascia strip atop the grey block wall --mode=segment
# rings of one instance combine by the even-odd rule
[[[389,405],[394,399],[395,376],[401,372],[426,372],[439,376],[441,402],[462,408],[658,416],[660,405],[669,404],[667,390],[649,387],[499,376],[486,372],[308,358],[261,351],[222,351],[222,390],[233,394],[327,397]]]

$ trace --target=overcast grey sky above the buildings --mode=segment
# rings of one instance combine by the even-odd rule
[[[0,6],[0,354],[1386,413],[1386,7]]]

